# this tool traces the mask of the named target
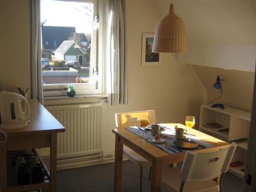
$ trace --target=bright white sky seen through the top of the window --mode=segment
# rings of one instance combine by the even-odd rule
[[[41,0],[41,23],[47,20],[45,26],[75,27],[77,33],[91,33],[93,16],[86,14],[82,4],[88,3]]]

